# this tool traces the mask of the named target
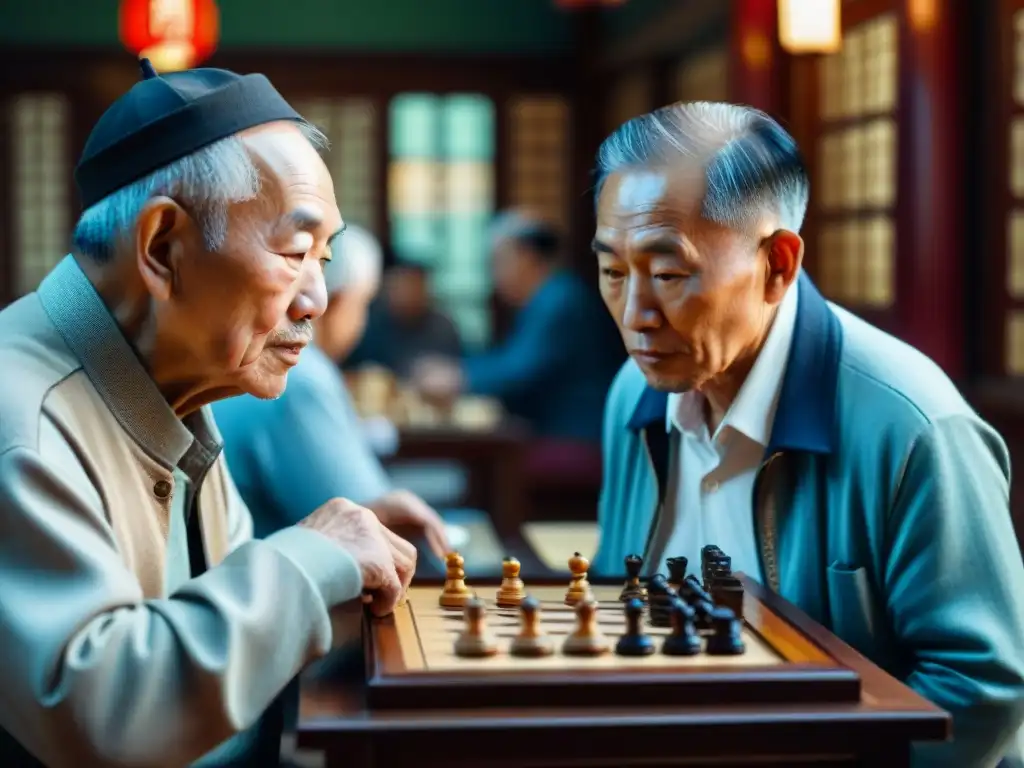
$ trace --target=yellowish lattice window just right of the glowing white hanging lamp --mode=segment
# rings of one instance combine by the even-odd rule
[[[894,13],[876,16],[820,68],[817,278],[858,307],[895,298],[897,37]]]

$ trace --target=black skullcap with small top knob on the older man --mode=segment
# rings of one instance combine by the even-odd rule
[[[239,131],[301,116],[263,75],[186,70],[160,76],[141,60],[142,80],[111,104],[75,169],[88,208],[111,193]]]

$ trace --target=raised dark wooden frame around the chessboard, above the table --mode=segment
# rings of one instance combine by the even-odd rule
[[[737,574],[743,585],[744,630],[753,632],[783,663],[771,666],[699,665],[680,659],[678,667],[647,667],[620,657],[613,668],[486,670],[466,659],[462,671],[408,669],[404,643],[420,643],[412,604],[383,618],[368,614],[364,644],[367,705],[371,710],[436,710],[438,708],[595,708],[624,706],[720,706],[856,703],[861,696],[859,673],[844,665],[822,644],[783,617],[788,611],[760,585]],[[500,580],[473,585],[480,592]],[[566,586],[564,580],[527,585]],[[418,587],[420,585],[417,585]],[[597,583],[595,583],[597,586]],[[622,585],[618,585],[620,587]],[[440,594],[440,585],[437,593]],[[779,609],[782,608],[782,609]],[[816,625],[815,625],[816,626]],[[557,653],[558,651],[556,651]],[[609,651],[614,653],[614,651]]]

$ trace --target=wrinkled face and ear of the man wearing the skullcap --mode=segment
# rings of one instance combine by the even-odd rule
[[[243,134],[262,178],[231,206],[227,238],[208,253],[196,220],[155,204],[140,218],[138,261],[156,299],[158,346],[218,396],[279,396],[327,305],[323,262],[342,229],[334,185],[296,126]],[[161,207],[162,206],[162,207]]]

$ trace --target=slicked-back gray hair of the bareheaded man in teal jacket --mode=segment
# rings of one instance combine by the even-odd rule
[[[810,179],[794,138],[750,106],[685,101],[620,126],[597,154],[597,196],[608,176],[631,167],[706,162],[701,216],[752,229],[766,216],[799,232]]]

